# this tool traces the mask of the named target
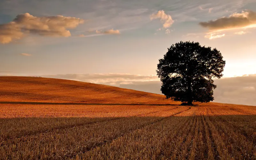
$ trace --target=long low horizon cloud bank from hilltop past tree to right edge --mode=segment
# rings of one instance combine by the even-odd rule
[[[122,88],[161,94],[161,82],[156,75],[133,74],[60,74],[42,77],[61,78],[107,84]],[[256,105],[256,74],[214,80],[214,102]]]

